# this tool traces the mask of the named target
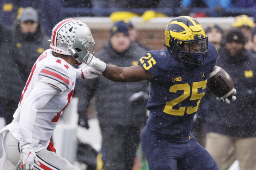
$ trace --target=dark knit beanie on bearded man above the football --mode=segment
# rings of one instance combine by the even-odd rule
[[[242,32],[239,29],[231,29],[227,32],[226,37],[225,37],[226,43],[227,42],[237,42],[244,44],[245,43],[245,38]]]

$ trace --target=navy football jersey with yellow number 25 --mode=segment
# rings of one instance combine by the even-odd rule
[[[147,126],[157,133],[180,136],[192,130],[192,121],[218,53],[208,42],[205,62],[185,69],[184,63],[174,58],[168,49],[148,51],[138,64],[154,76],[150,80],[150,111]]]

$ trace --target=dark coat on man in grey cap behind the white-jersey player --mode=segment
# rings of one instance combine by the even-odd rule
[[[19,24],[14,31],[8,31],[10,39],[1,48],[1,91],[0,104],[6,124],[11,123],[15,110],[17,109],[22,90],[30,75],[30,71],[44,50],[49,48],[50,38],[44,36],[40,29],[34,34],[23,34]]]

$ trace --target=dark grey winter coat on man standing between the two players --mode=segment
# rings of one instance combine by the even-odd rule
[[[125,53],[117,53],[110,42],[96,54],[107,64],[129,67],[138,64],[138,58],[146,54],[146,50],[131,42]],[[113,82],[104,77],[80,83],[78,113],[85,113],[90,99],[96,95],[96,109],[100,124],[141,126],[146,123],[146,100],[140,97],[130,101],[134,93],[147,91],[146,81],[121,83]],[[147,98],[147,97],[146,97]]]

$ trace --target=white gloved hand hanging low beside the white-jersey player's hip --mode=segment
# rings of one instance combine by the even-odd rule
[[[20,159],[16,165],[16,170],[33,170],[34,163],[40,166],[30,144],[24,144],[21,146]]]

